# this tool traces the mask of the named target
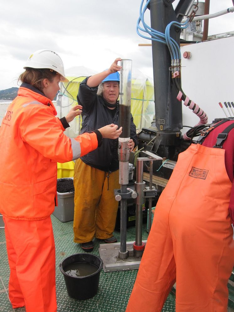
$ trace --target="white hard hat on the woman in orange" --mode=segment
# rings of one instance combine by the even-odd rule
[[[31,54],[24,65],[30,68],[49,68],[56,71],[61,76],[61,81],[68,82],[65,77],[63,62],[61,57],[52,50],[37,50]]]

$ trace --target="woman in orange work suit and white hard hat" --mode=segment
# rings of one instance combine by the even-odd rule
[[[13,309],[56,312],[50,215],[56,204],[57,161],[77,159],[96,149],[102,138],[118,138],[121,129],[111,124],[68,138],[64,126],[79,112],[70,111],[68,120],[55,117],[52,100],[59,82],[67,81],[61,58],[54,51],[38,50],[24,69],[18,96],[0,129],[0,212],[10,266],[9,299]]]

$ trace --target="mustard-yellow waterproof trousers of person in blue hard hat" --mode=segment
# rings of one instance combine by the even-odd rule
[[[94,237],[113,236],[118,202],[114,189],[119,189],[119,170],[108,173],[77,159],[74,168],[74,242],[85,243]],[[109,187],[108,187],[109,184]],[[109,190],[108,190],[109,188]]]

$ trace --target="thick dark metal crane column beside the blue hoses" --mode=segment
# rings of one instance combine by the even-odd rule
[[[181,22],[185,13],[194,3],[193,0],[180,0],[174,10],[173,0],[151,0],[151,28],[165,33],[166,26],[172,21]],[[170,37],[180,45],[181,29],[172,26]],[[159,156],[176,158],[181,144],[182,105],[177,100],[178,89],[171,78],[171,56],[168,46],[152,40],[152,61],[155,98],[155,127],[157,130],[153,151]]]

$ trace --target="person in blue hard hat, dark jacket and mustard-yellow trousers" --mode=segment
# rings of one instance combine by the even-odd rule
[[[119,124],[119,83],[121,66],[117,58],[109,69],[84,79],[77,101],[82,105],[81,133],[106,124]],[[130,140],[132,151],[138,144],[136,126],[131,115]],[[93,250],[93,238],[114,243],[113,236],[118,202],[114,189],[119,189],[118,140],[103,139],[96,151],[81,157],[74,168],[74,242],[84,251]]]

